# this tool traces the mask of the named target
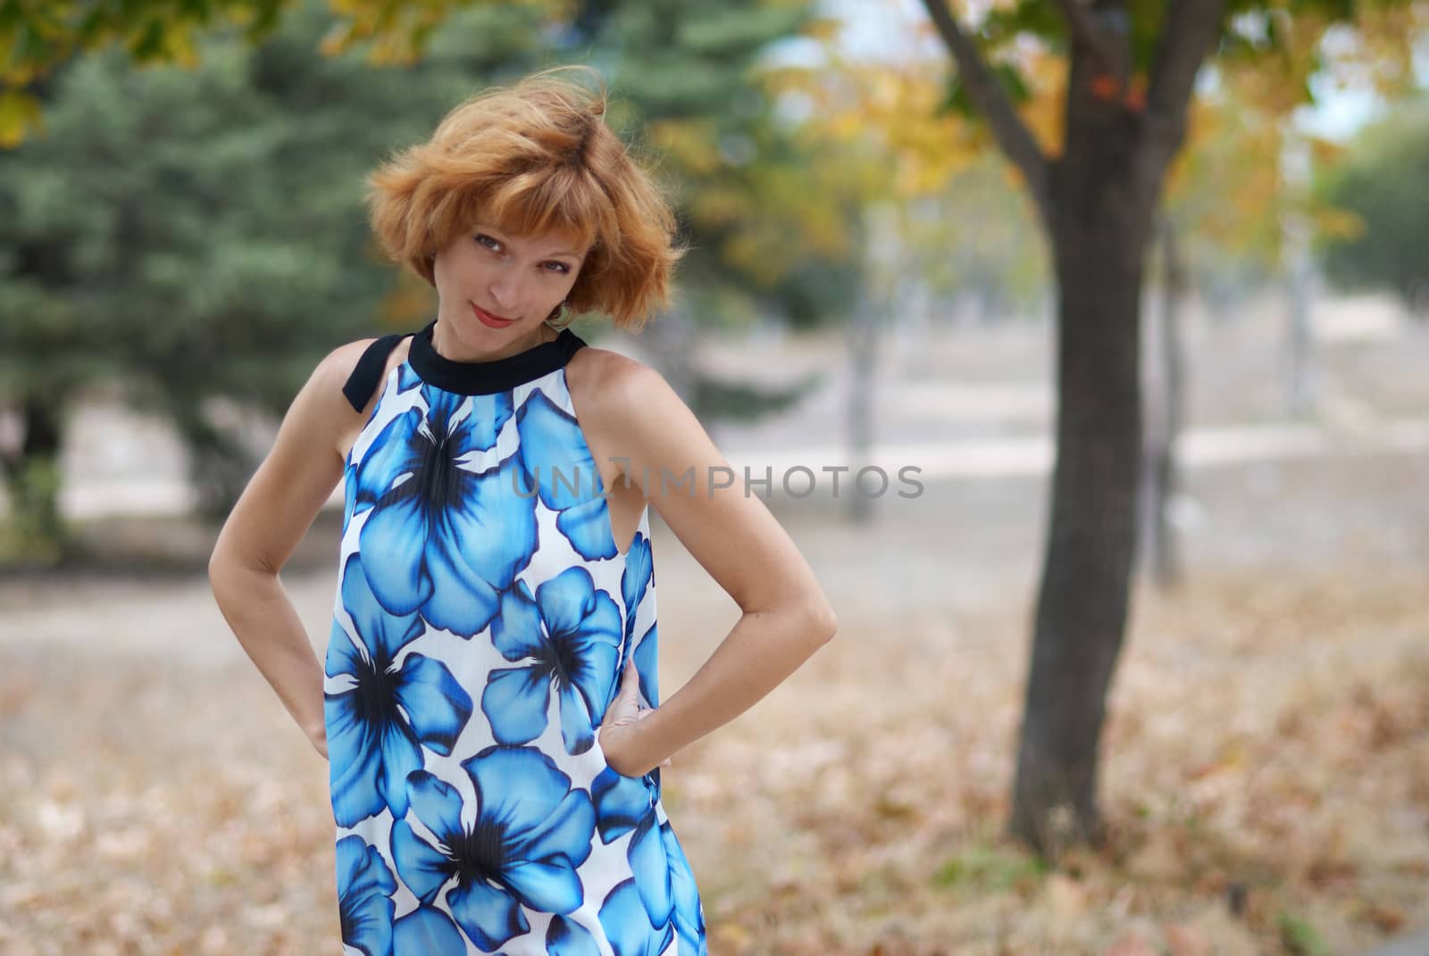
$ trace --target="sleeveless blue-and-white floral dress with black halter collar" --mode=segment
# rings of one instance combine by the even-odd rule
[[[659,769],[594,730],[634,659],[657,706],[649,507],[620,553],[566,390],[569,329],[453,362],[364,352],[324,719],[344,953],[704,956]]]

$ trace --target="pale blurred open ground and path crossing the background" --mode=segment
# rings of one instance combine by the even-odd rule
[[[1429,362],[1429,326],[1375,300],[1318,303],[1315,416],[1289,420],[1276,304],[1252,304],[1233,320],[1195,310],[1187,316],[1183,467],[1429,449],[1429,376],[1419,372]],[[935,329],[909,322],[886,332],[870,394],[872,464],[890,474],[916,466],[923,480],[1049,472],[1055,363],[1046,323]],[[637,336],[602,344],[642,357]],[[819,377],[810,394],[777,416],[710,424],[736,469],[759,476],[772,469],[777,496],[792,467],[819,472],[850,464],[845,436],[853,383],[837,330],[712,336],[699,359],[712,374],[766,386]],[[234,422],[256,453],[272,443],[273,423],[254,416]],[[16,424],[0,416],[0,440]],[[120,407],[84,406],[67,433],[61,507],[76,519],[183,514],[193,503],[184,462],[161,422]],[[820,484],[826,480],[820,476]],[[803,487],[796,480],[792,486]]]

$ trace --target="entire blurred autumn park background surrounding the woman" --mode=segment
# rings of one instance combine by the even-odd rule
[[[710,952],[1429,953],[1393,0],[0,0],[0,952],[342,952],[206,562],[317,360],[433,314],[363,176],[560,63],[692,246],[576,332],[770,470],[840,620],[664,772]],[[739,609],[652,524],[669,696]]]

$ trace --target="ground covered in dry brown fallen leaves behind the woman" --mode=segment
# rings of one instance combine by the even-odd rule
[[[326,765],[266,684],[201,614],[106,646],[106,603],[133,626],[147,599],[173,627],[201,590],[110,582],[11,614],[79,602],[91,629],[0,647],[0,952],[340,952]],[[1422,596],[1375,567],[1140,592],[1110,837],[1055,869],[999,836],[1023,609],[846,623],[666,770],[710,952],[1352,953],[1418,925]],[[664,670],[687,674],[702,643],[669,642]]]

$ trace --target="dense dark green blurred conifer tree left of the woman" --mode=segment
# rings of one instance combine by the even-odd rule
[[[439,91],[406,74],[360,104],[324,99],[373,69],[294,57],[314,27],[299,11],[253,53],[209,39],[194,70],[71,60],[51,77],[46,133],[0,153],[14,211],[0,224],[14,250],[0,270],[0,400],[23,410],[9,470],[21,523],[43,516],[23,534],[36,556],[61,543],[50,473],[83,390],[109,383],[173,420],[200,502],[223,510],[247,463],[210,400],[282,410],[314,350],[370,326],[387,279],[353,184]]]

